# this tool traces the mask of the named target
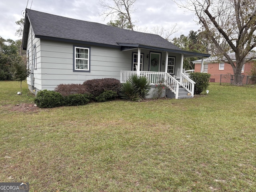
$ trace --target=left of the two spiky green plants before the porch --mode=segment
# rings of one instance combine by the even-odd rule
[[[124,100],[140,101],[140,96],[138,92],[134,88],[134,85],[129,81],[121,85],[119,95]]]

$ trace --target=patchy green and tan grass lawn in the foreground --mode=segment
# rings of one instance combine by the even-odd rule
[[[19,88],[0,82],[1,182],[31,192],[256,191],[256,86],[33,110]]]

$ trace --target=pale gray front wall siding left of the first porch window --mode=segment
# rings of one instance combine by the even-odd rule
[[[42,40],[40,44],[40,71],[42,90],[54,90],[58,84],[82,84],[95,78],[120,79],[120,71],[130,70],[131,53],[119,49],[90,47],[90,72],[73,71],[74,44]]]

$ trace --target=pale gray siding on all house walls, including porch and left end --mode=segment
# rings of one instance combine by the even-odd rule
[[[32,33],[32,35],[31,35]],[[34,67],[33,49],[36,45],[37,67]],[[90,47],[90,72],[74,71],[73,57],[74,46]],[[108,48],[99,46],[89,46],[82,44],[72,44],[35,38],[30,27],[28,36],[27,51],[29,51],[29,63],[31,75],[27,78],[30,90],[54,90],[59,84],[82,84],[86,80],[95,78],[116,78],[120,80],[120,71],[132,70],[132,53],[138,52],[137,49],[120,51],[118,48]],[[144,54],[143,70],[149,70],[150,51],[142,49]],[[181,54],[170,53],[169,56],[176,57],[175,73],[180,67]],[[164,72],[165,66],[162,61],[166,59],[166,52],[162,52],[161,71]],[[32,79],[34,86],[32,86]]]

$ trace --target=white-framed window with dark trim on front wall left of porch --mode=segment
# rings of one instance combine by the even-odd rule
[[[90,48],[74,47],[74,70],[90,71]]]

